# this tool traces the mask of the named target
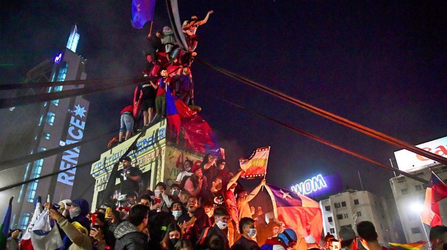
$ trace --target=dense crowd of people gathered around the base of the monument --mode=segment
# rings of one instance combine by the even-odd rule
[[[49,202],[44,204],[62,235],[61,249],[357,250],[359,242],[366,250],[389,249],[379,245],[369,221],[358,223],[357,233],[350,227],[342,227],[337,237],[328,233],[321,244],[312,237],[299,238],[283,222],[267,220],[261,207],[250,206],[265,179],[251,192],[239,188],[242,170],[231,173],[223,158],[207,154],[200,165],[185,160],[169,189],[159,182],[144,190],[139,185],[142,173],[132,166],[132,159],[125,156],[121,160],[118,178],[124,199],[120,205],[106,200],[90,213],[83,199],[62,200],[59,210]],[[432,228],[433,250],[446,250],[446,240],[447,227]],[[9,250],[20,249],[17,231],[11,232],[9,241]]]

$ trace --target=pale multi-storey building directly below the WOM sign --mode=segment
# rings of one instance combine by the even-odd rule
[[[394,226],[392,207],[384,198],[379,198],[368,191],[347,190],[343,193],[320,200],[323,213],[324,234],[330,233],[338,238],[343,227],[354,228],[362,221],[373,222],[379,244],[399,242],[399,227]]]

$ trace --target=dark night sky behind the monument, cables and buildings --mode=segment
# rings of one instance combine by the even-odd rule
[[[417,145],[447,136],[446,1],[180,1],[180,16],[204,17],[198,57],[299,100]],[[126,3],[126,4],[124,4]],[[65,48],[72,25],[87,79],[137,77],[144,67],[149,24],[132,28],[131,0],[1,1],[0,81],[26,72]],[[170,25],[157,0],[154,30]],[[267,182],[290,187],[316,174],[340,173],[343,184],[390,195],[394,174],[235,109],[222,99],[281,120],[389,164],[399,150],[230,79],[192,65],[195,102],[235,171],[239,157],[271,146]],[[133,87],[85,96],[84,139],[119,128]],[[79,163],[98,159],[105,138],[82,146]],[[73,198],[86,190],[89,167],[77,170]],[[80,184],[79,181],[82,181]],[[252,181],[252,182],[258,182]],[[86,190],[86,192],[84,192]]]

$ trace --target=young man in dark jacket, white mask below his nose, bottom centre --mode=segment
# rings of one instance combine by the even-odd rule
[[[225,229],[228,226],[229,213],[223,206],[218,206],[214,209],[214,226],[203,229],[197,241],[196,248],[198,250],[209,249],[210,240],[213,235],[217,235],[224,240],[224,250],[229,250],[229,242]]]

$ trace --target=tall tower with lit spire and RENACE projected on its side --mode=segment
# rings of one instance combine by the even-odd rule
[[[78,41],[79,33],[77,32],[76,25],[74,25],[65,50],[58,53],[53,60],[46,60],[29,71],[27,77],[44,82],[85,80],[87,76],[84,72],[86,59],[75,53]],[[50,68],[51,71],[49,70]],[[37,88],[38,90],[35,93],[51,93],[74,90],[82,87],[83,85],[66,85]],[[8,142],[10,142],[8,148],[3,147],[0,149],[3,159],[54,149],[82,140],[89,102],[81,96],[51,100],[27,106],[6,111],[10,112],[7,114],[8,117],[11,117],[15,125],[21,129],[16,131],[13,127],[14,123],[10,123],[8,124],[8,133],[2,131],[2,137],[7,136]],[[22,113],[16,111],[26,112],[27,115],[23,116],[21,115]],[[19,126],[21,123],[27,122],[28,119],[32,123],[28,122],[29,124],[25,126]],[[24,132],[26,132],[26,136],[19,134]],[[21,140],[16,140],[17,138],[21,138]],[[18,141],[17,143],[20,144],[16,143],[14,145],[15,141]],[[17,154],[14,150],[22,153]],[[24,166],[13,166],[11,169],[2,171],[0,174],[1,183],[5,183],[6,185],[19,183],[75,166],[77,164],[79,150],[80,147],[77,147],[57,155],[29,162]],[[76,169],[72,169],[59,175],[36,180],[21,185],[20,187],[1,192],[0,211],[5,210],[3,208],[5,208],[4,206],[7,202],[4,201],[14,196],[11,226],[14,228],[25,228],[34,210],[33,202],[37,196],[41,196],[43,201],[45,201],[47,195],[50,195],[51,201],[53,202],[71,197],[75,171]]]

